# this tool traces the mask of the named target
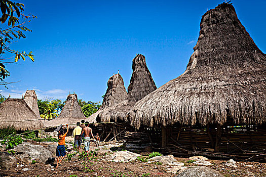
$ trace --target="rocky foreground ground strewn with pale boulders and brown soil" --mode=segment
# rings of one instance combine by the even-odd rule
[[[28,144],[34,142],[28,142]],[[54,147],[56,143],[35,143],[42,145],[52,156],[55,157]],[[65,158],[63,165],[55,168],[54,159],[50,158],[47,163],[42,162],[44,151],[41,147],[37,153],[32,154],[31,149],[34,146],[25,145],[23,148],[17,148],[18,151],[26,149],[26,155],[20,153],[16,155],[17,161],[13,167],[8,170],[4,168],[0,171],[0,176],[182,176],[185,170],[192,169],[192,166],[207,166],[218,171],[221,176],[266,176],[266,164],[255,162],[235,162],[222,160],[209,160],[204,157],[174,158],[173,156],[154,157],[146,160],[147,156],[128,151],[112,152],[109,149],[121,146],[119,143],[111,143],[95,147],[92,144],[90,156],[76,154],[71,151],[71,144],[68,144],[68,158]],[[46,153],[49,154],[49,153]],[[31,156],[32,155],[32,156]],[[34,159],[34,156],[38,159]],[[139,157],[138,157],[139,156]],[[18,158],[19,157],[19,158]],[[45,157],[47,158],[47,157]],[[1,159],[0,159],[1,161]],[[12,165],[10,165],[12,166]],[[185,176],[185,175],[183,175]],[[192,175],[193,176],[193,175]]]

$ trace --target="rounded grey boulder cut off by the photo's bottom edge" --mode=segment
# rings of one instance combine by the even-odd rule
[[[205,166],[187,168],[175,177],[224,177],[218,171]]]

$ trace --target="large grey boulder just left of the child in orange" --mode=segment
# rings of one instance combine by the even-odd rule
[[[43,146],[40,145],[32,145],[30,143],[23,143],[16,146],[14,149],[18,153],[16,158],[25,161],[27,163],[31,163],[32,160],[36,162],[46,162],[49,158],[53,157],[51,151],[47,150]]]

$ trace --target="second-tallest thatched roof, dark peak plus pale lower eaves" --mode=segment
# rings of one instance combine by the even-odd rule
[[[145,57],[138,54],[132,62],[133,73],[128,86],[127,100],[104,109],[97,117],[100,121],[127,121],[128,112],[133,108],[134,104],[157,89],[147,68]]]

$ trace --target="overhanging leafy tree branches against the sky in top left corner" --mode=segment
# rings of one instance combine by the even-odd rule
[[[16,51],[10,47],[10,44],[15,42],[17,39],[26,38],[24,32],[31,30],[24,26],[24,24],[29,22],[30,18],[36,18],[36,16],[22,14],[25,6],[21,3],[14,3],[9,0],[0,0],[0,7],[2,12],[2,16],[0,18],[2,22],[0,27],[0,84],[6,85],[7,82],[5,82],[5,79],[9,76],[9,71],[5,66],[6,64],[17,62],[21,58],[25,61],[25,57],[29,57],[32,61],[34,61],[34,55],[32,52],[26,54],[25,51]],[[4,29],[7,25],[8,27]],[[7,53],[13,54],[15,60],[9,61],[3,58],[3,55]]]

